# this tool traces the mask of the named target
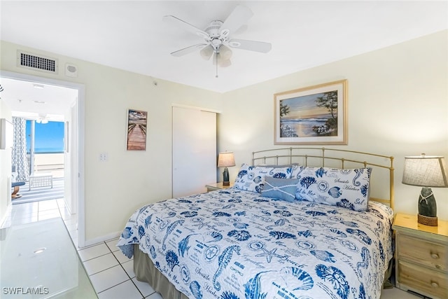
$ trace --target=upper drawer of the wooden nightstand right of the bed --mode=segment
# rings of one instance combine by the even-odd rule
[[[447,246],[400,234],[398,247],[400,248],[399,259],[406,258],[445,272],[448,270]]]

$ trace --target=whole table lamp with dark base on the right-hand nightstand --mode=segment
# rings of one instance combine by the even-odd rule
[[[424,153],[405,157],[402,183],[423,187],[419,196],[418,222],[437,226],[437,205],[433,190],[429,187],[448,187],[448,171],[444,158]]]

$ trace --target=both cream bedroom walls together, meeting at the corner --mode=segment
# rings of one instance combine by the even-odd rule
[[[420,188],[401,184],[405,155],[448,158],[447,35],[423,36],[222,95],[4,41],[0,69],[85,85],[88,243],[117,234],[135,209],[171,196],[172,103],[222,111],[218,150],[234,151],[239,165],[250,162],[251,151],[275,147],[274,93],[340,79],[348,80],[349,144],[337,147],[393,155],[395,208],[415,214]],[[78,78],[15,67],[18,48],[57,57],[60,65],[76,64]],[[146,151],[125,151],[129,108],[148,111]],[[108,153],[109,160],[99,162],[99,153]],[[237,169],[230,167],[231,179]],[[448,219],[448,189],[434,191],[438,216]]]

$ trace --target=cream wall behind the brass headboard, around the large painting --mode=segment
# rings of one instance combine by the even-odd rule
[[[348,81],[347,146],[395,158],[395,211],[417,213],[420,187],[401,183],[407,155],[448,159],[448,31],[307,69],[223,95],[218,118],[220,150],[237,165],[251,152],[274,146],[274,93]],[[288,146],[284,146],[288,147]],[[230,167],[235,179],[239,167]],[[222,175],[221,175],[222,177]],[[437,215],[448,219],[448,188],[433,188]]]

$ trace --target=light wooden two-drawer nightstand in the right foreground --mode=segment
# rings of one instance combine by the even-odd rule
[[[417,222],[416,215],[397,214],[395,282],[398,288],[430,298],[448,298],[448,221],[438,226]]]

